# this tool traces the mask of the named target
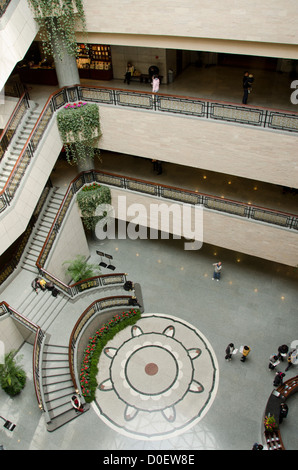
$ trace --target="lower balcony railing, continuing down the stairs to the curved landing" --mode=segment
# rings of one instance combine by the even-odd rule
[[[251,205],[243,202],[222,199],[216,196],[190,191],[174,186],[166,186],[150,181],[126,177],[103,171],[86,171],[78,175],[68,186],[64,199],[58,209],[57,215],[49,230],[46,241],[41,249],[36,266],[40,274],[49,281],[52,281],[62,292],[70,297],[74,297],[85,289],[98,287],[100,285],[112,285],[124,283],[126,275],[124,273],[97,276],[73,285],[67,285],[55,278],[45,269],[45,265],[51,249],[58,237],[59,230],[67,215],[67,211],[73,202],[75,194],[86,184],[93,182],[102,183],[111,187],[117,187],[128,191],[136,191],[145,195],[155,196],[159,199],[187,203],[193,206],[201,205],[206,209],[220,211],[225,214],[251,219],[266,224],[277,225],[280,228],[298,230],[298,216],[281,211],[274,211],[264,207]]]

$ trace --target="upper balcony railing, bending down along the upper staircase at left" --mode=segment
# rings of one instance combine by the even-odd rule
[[[18,186],[55,112],[69,102],[90,101],[112,106],[125,106],[148,111],[191,115],[194,118],[221,120],[249,126],[262,126],[285,132],[298,132],[298,113],[239,106],[233,103],[189,97],[127,91],[108,87],[72,86],[53,93],[45,104],[12,172],[0,192],[0,213],[14,198]]]

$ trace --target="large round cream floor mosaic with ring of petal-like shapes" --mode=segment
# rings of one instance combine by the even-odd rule
[[[167,439],[207,413],[218,387],[217,359],[200,331],[179,318],[144,314],[101,354],[94,409],[134,439]]]

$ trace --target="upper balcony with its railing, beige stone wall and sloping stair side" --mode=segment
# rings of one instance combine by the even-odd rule
[[[35,100],[41,89],[49,91],[37,87],[31,98]],[[56,110],[78,99],[99,104],[103,131],[100,148],[103,150],[148,160],[158,158],[175,164],[178,173],[184,171],[182,166],[188,167],[190,172],[201,168],[216,171],[217,175],[242,175],[247,179],[295,187],[288,183],[297,181],[297,114],[164,93],[153,97],[144,89],[138,92],[87,85],[70,87],[56,90],[47,101],[13,169],[10,183],[4,188],[1,246],[9,246],[13,237],[25,229],[29,212],[34,210],[60,153],[62,144]],[[44,94],[40,100],[46,101]],[[209,106],[213,114],[206,113]],[[250,115],[256,114],[259,121],[251,122]],[[280,128],[282,122],[284,129]],[[291,129],[287,128],[289,122]],[[124,162],[123,158],[122,165]],[[186,177],[183,187],[187,189],[187,186]],[[18,197],[19,193],[22,198]],[[218,207],[222,203],[224,201]],[[275,210],[274,196],[271,208],[272,204]],[[290,236],[293,237],[293,233]]]

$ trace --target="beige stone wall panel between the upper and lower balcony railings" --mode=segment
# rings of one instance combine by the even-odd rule
[[[100,115],[104,150],[298,187],[293,133],[119,107]]]

